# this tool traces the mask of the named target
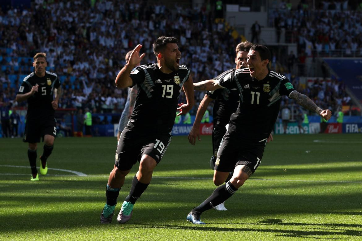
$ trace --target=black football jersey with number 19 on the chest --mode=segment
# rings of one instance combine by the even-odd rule
[[[180,65],[169,74],[161,72],[156,63],[138,66],[130,77],[138,89],[130,121],[147,132],[171,132],[176,117],[178,96],[189,79],[190,71]]]

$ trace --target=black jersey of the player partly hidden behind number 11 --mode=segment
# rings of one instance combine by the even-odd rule
[[[226,70],[224,73],[215,77],[214,79],[223,79],[228,74],[234,76],[235,68]],[[239,90],[233,89],[217,89],[213,91],[207,91],[206,94],[215,100],[214,109],[212,110],[212,116],[214,117],[214,125],[223,125],[229,123],[230,116],[236,112],[236,108],[239,105],[240,95]]]

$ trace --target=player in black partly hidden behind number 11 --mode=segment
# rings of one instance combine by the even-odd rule
[[[228,74],[234,74],[236,69],[247,68],[248,52],[252,43],[249,41],[239,43],[235,48],[235,68],[226,70],[224,73],[215,77],[215,80],[220,80]],[[189,133],[189,142],[191,145],[195,145],[196,138],[200,141],[200,123],[202,117],[212,100],[215,100],[214,109],[212,115],[214,116],[214,127],[212,129],[212,157],[210,160],[210,167],[214,170],[216,155],[220,146],[221,139],[226,133],[226,125],[229,123],[230,116],[236,111],[239,105],[239,91],[236,88],[233,89],[218,89],[214,91],[207,91],[204,98],[201,100],[199,108],[197,109],[196,117],[192,129]],[[232,173],[228,176],[226,181],[230,180]],[[224,203],[220,203],[215,206],[214,209],[219,211],[226,211]]]

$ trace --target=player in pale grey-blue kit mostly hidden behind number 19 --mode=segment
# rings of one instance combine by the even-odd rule
[[[126,54],[126,63],[131,55],[132,51],[129,51]],[[138,63],[135,67],[138,67],[140,64]],[[122,130],[125,129],[128,120],[131,117],[131,114],[133,112],[133,109],[135,108],[135,101],[136,101],[136,96],[137,96],[137,88],[136,87],[132,87],[132,88],[128,88],[128,93],[127,93],[127,101],[125,104],[125,108],[122,111],[122,115],[121,118],[119,118],[119,122],[118,122],[118,133],[117,133],[117,146],[119,144],[119,137],[121,137],[121,133]]]

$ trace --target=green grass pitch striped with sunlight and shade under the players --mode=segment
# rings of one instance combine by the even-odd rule
[[[211,137],[201,138],[191,146],[173,137],[122,225],[115,216],[138,164],[113,222],[99,221],[115,138],[56,139],[39,182],[30,181],[27,144],[0,139],[0,240],[362,240],[361,134],[275,135],[228,211],[206,211],[207,224],[193,225],[186,215],[215,189]]]

